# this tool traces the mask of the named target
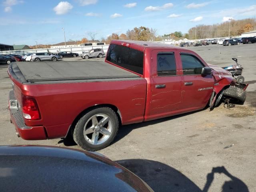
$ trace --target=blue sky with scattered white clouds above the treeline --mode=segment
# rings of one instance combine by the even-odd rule
[[[55,44],[66,40],[96,39],[113,32],[146,26],[159,35],[188,32],[198,24],[256,17],[255,0],[2,0],[0,43]],[[90,39],[90,38],[89,38]]]

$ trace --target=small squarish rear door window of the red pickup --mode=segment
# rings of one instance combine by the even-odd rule
[[[172,52],[158,53],[157,75],[158,76],[176,75],[176,62],[175,62],[174,53]]]

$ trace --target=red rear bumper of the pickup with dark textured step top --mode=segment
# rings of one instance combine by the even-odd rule
[[[15,100],[13,91],[10,91],[9,99]],[[44,126],[26,126],[20,110],[12,113],[10,111],[11,123],[14,124],[16,134],[24,140],[45,140],[47,134]]]

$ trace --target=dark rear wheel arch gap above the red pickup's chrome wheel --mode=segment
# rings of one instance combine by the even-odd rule
[[[80,112],[76,116],[76,118],[73,120],[72,124],[70,125],[65,138],[68,136],[68,134],[71,134],[73,132],[73,130],[74,130],[75,126],[76,126],[76,123],[78,122],[78,120],[82,116],[84,116],[84,114],[86,114],[87,112],[89,112],[91,110],[94,110],[94,109],[97,109],[97,108],[102,108],[102,107],[109,107],[109,108],[111,108],[116,113],[120,125],[122,125],[122,114],[121,114],[120,110],[116,106],[114,106],[112,104],[98,104],[98,105],[90,106],[90,107],[84,109],[82,112]]]

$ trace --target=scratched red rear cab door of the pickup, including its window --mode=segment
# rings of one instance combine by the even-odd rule
[[[149,119],[170,116],[181,109],[182,94],[177,50],[152,50],[151,98]]]

